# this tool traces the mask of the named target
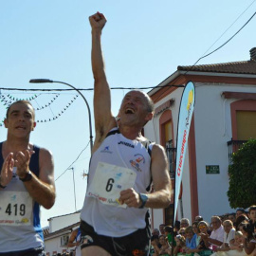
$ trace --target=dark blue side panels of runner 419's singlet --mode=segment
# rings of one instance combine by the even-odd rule
[[[4,158],[2,155],[2,146],[3,142],[0,143],[0,174],[2,170],[2,165],[4,163]],[[35,152],[33,155],[31,155],[30,162],[29,162],[29,170],[35,174],[37,177],[39,177],[39,151],[40,148],[36,145],[33,145],[33,151]],[[44,241],[44,234],[43,230],[41,228],[40,224],[40,206],[37,202],[34,202],[33,207],[33,227],[35,231],[41,236],[42,240]]]

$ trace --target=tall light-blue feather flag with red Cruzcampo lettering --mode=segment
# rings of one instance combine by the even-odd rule
[[[192,112],[194,107],[194,85],[188,82],[184,88],[178,115],[178,128],[176,140],[176,170],[175,170],[175,190],[174,190],[174,222],[178,205],[178,195],[180,192],[180,183],[183,173],[184,160],[188,145],[190,133]]]

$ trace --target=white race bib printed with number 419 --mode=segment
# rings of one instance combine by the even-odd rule
[[[0,225],[30,225],[32,198],[28,192],[1,192]]]

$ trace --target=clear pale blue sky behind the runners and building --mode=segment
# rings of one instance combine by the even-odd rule
[[[88,17],[97,11],[107,18],[102,48],[113,88],[112,112],[117,115],[126,88],[154,87],[178,65],[192,65],[223,45],[256,11],[256,0],[0,2],[0,121],[5,117],[5,101],[30,99],[38,120],[30,141],[54,157],[57,198],[51,210],[42,208],[43,227],[51,217],[82,209],[87,182],[82,174],[88,172],[90,159],[88,109],[76,91],[53,90],[68,89],[64,84],[29,80],[50,79],[82,89],[94,136]],[[256,47],[255,27],[256,17],[198,64],[249,60],[249,50]],[[6,137],[0,126],[0,140]]]

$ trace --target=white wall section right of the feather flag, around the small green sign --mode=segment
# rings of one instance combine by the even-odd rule
[[[232,212],[229,208],[229,151],[231,139],[230,102],[224,91],[256,92],[255,86],[195,84],[195,151],[199,214],[210,221],[213,214]],[[206,165],[219,165],[220,174],[206,174]]]

